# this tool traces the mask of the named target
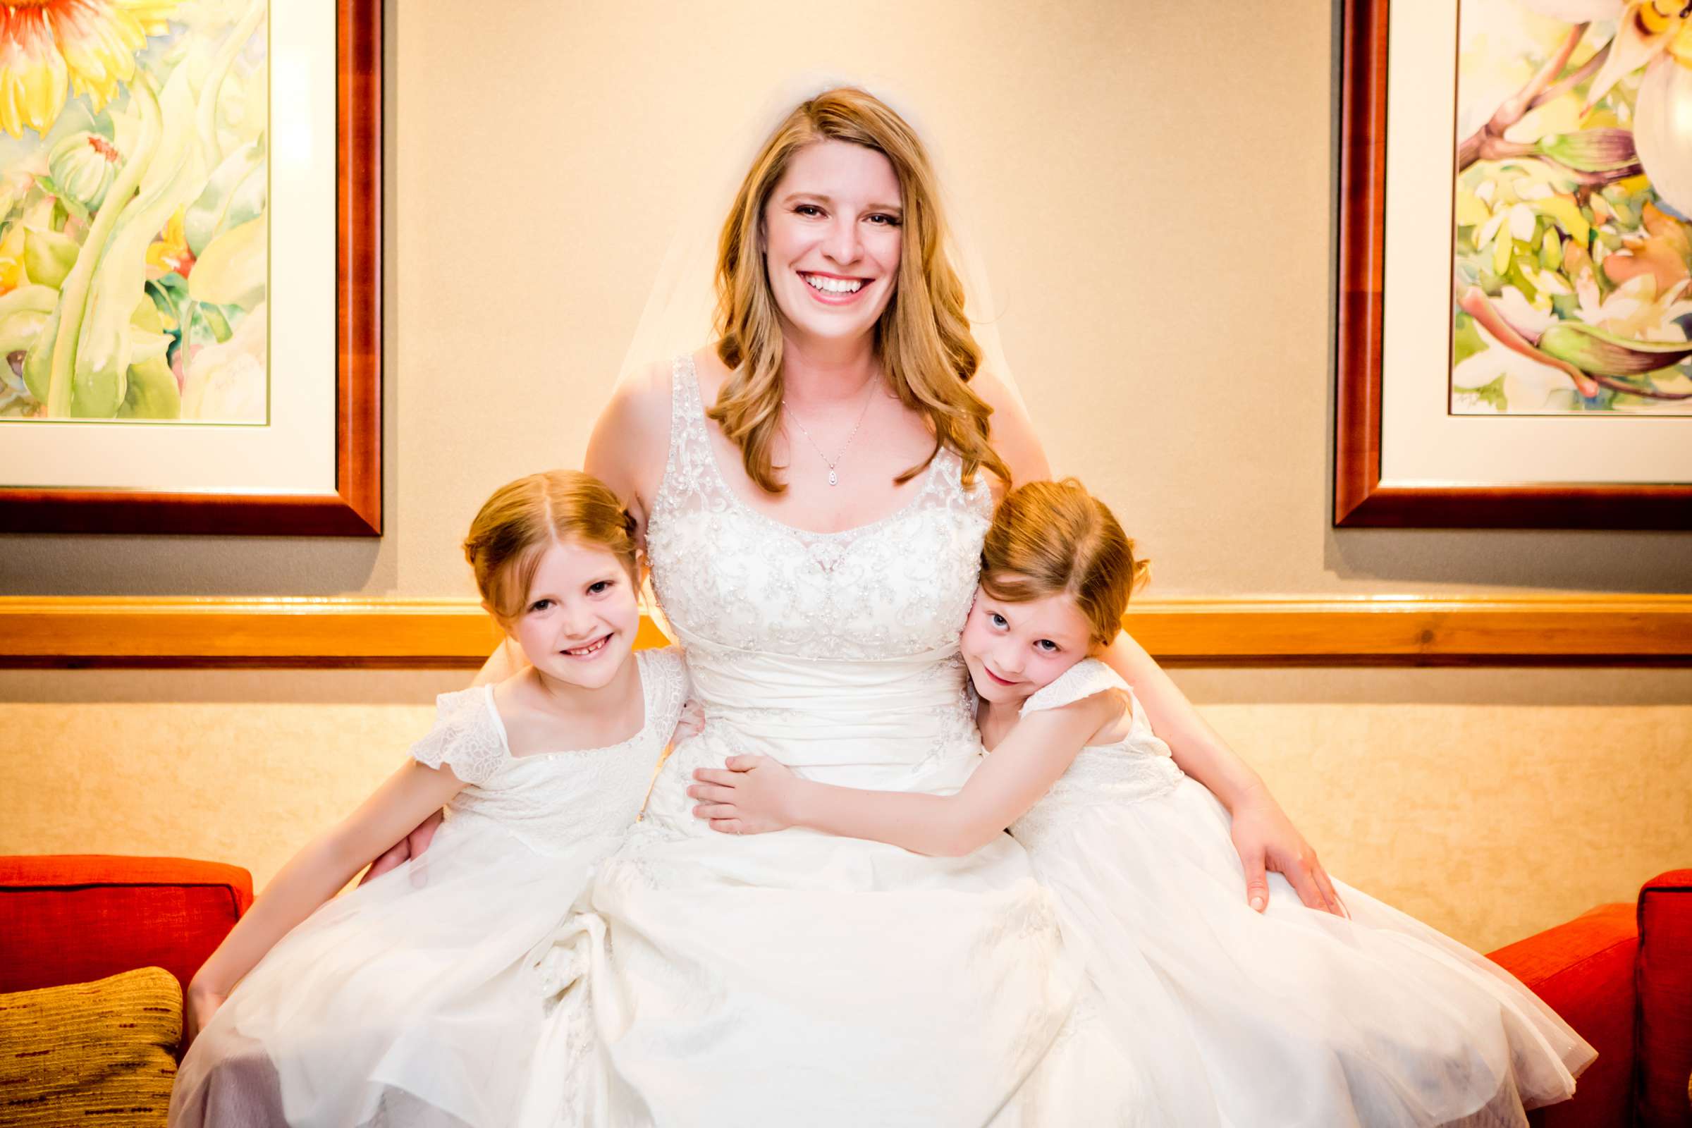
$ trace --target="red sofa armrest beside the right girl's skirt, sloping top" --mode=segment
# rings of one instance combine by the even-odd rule
[[[1492,952],[1592,1043],[1597,1060],[1572,1101],[1538,1109],[1543,1128],[1616,1128],[1633,1123],[1633,983],[1640,930],[1633,905],[1601,905],[1574,920]]]

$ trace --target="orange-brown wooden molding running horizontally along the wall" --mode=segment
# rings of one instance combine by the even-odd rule
[[[1166,599],[1125,624],[1183,666],[1692,665],[1692,595]],[[0,597],[14,668],[472,668],[497,639],[460,599]]]

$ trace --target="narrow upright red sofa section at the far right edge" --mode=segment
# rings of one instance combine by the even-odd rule
[[[1692,1125],[1692,869],[1640,890],[1640,1128]]]

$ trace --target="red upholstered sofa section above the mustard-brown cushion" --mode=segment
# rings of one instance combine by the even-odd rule
[[[252,905],[252,874],[183,857],[0,857],[0,993],[164,967],[188,988]]]

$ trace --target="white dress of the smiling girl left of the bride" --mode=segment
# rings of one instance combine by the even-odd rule
[[[171,1125],[585,1123],[602,1089],[585,983],[558,935],[623,841],[687,697],[638,651],[645,724],[511,756],[492,688],[440,695],[411,747],[469,786],[420,857],[323,905],[242,979],[183,1060]]]

